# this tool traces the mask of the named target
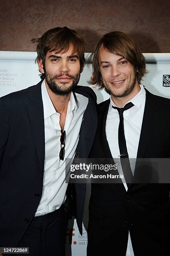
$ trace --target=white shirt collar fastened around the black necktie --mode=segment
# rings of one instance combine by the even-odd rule
[[[128,102],[132,102],[133,105],[135,105],[137,108],[140,108],[143,102],[143,99],[145,98],[146,92],[145,89],[143,87],[142,84],[140,84],[140,91],[137,93],[137,95],[135,95],[131,100],[129,100]],[[127,103],[128,103],[127,102]],[[126,103],[126,104],[127,104]],[[126,105],[125,104],[125,105]],[[125,106],[124,105],[124,106]],[[115,103],[112,101],[111,95],[110,95],[110,105],[109,105],[109,111],[112,110],[112,106],[117,107],[117,105],[115,105]],[[124,107],[123,106],[123,107]]]

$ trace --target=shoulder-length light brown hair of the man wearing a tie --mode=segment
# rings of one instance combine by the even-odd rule
[[[90,81],[88,82],[89,84],[96,84],[100,89],[104,88],[98,61],[101,47],[113,54],[120,55],[127,59],[130,64],[133,65],[135,70],[138,70],[137,79],[140,84],[142,77],[147,72],[145,57],[139,47],[135,44],[133,38],[120,31],[113,31],[105,34],[95,46],[92,54],[90,54],[88,64],[92,62],[93,73]]]

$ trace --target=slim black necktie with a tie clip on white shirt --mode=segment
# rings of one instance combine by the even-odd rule
[[[123,111],[128,110],[133,106],[134,105],[132,102],[129,102],[128,104],[126,104],[124,108],[117,108],[112,106],[112,108],[117,109],[119,113],[120,122],[119,122],[119,129],[118,129],[118,142],[119,142],[119,150],[120,150],[120,162],[122,165],[123,175],[128,188],[130,186],[130,181],[132,181],[133,179],[133,175],[132,175],[132,170],[130,168],[130,161],[129,161],[128,150],[127,150],[126,140],[125,140]]]

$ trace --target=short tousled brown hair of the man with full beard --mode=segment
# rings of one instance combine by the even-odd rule
[[[85,43],[83,37],[75,30],[70,28],[52,28],[46,31],[40,38],[32,38],[32,43],[37,44],[37,60],[42,59],[45,69],[45,56],[47,51],[57,51],[65,53],[72,46],[73,51],[77,51],[80,55],[80,68],[84,67],[85,62]],[[41,79],[45,78],[45,74],[41,74]]]

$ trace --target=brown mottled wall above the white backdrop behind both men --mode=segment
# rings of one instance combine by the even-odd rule
[[[35,51],[50,28],[83,33],[86,52],[110,31],[131,35],[143,52],[170,52],[170,0],[1,0],[0,50]]]

